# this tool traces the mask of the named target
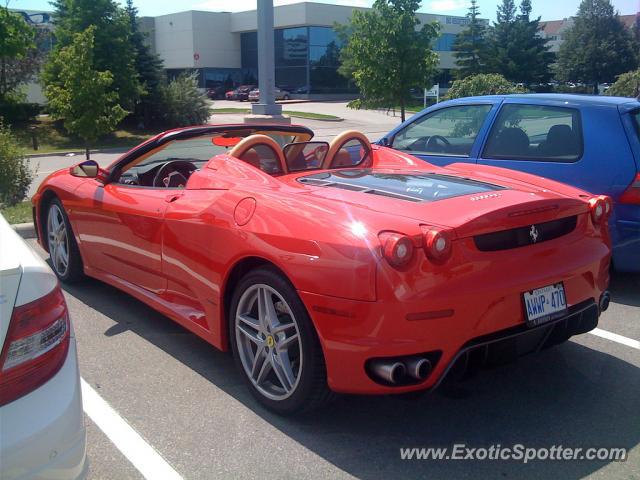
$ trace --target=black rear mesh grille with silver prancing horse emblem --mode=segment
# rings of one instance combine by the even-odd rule
[[[500,232],[485,233],[473,237],[478,250],[495,252],[510,248],[524,247],[535,243],[546,242],[573,232],[578,217],[566,217],[551,222],[536,223],[526,227],[512,228]]]

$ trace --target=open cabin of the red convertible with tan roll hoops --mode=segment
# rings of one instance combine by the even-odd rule
[[[322,168],[348,168],[370,163],[371,144],[356,131],[331,143],[307,141],[308,135],[265,131],[197,135],[169,141],[123,166],[116,183],[151,188],[184,188],[193,172],[212,157],[226,153],[272,176]],[[302,140],[302,141],[299,141]]]

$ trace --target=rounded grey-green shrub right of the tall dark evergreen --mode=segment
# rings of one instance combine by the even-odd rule
[[[209,102],[198,89],[195,73],[182,74],[164,87],[165,122],[169,127],[186,127],[207,123],[210,115]]]

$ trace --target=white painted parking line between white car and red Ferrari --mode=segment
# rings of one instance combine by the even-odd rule
[[[80,382],[85,413],[144,478],[182,480],[180,474],[118,415],[84,378],[81,378]]]

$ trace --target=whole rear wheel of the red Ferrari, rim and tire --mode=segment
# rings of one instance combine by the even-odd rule
[[[281,414],[329,400],[324,356],[304,304],[277,271],[247,274],[233,294],[231,346],[260,403]]]

